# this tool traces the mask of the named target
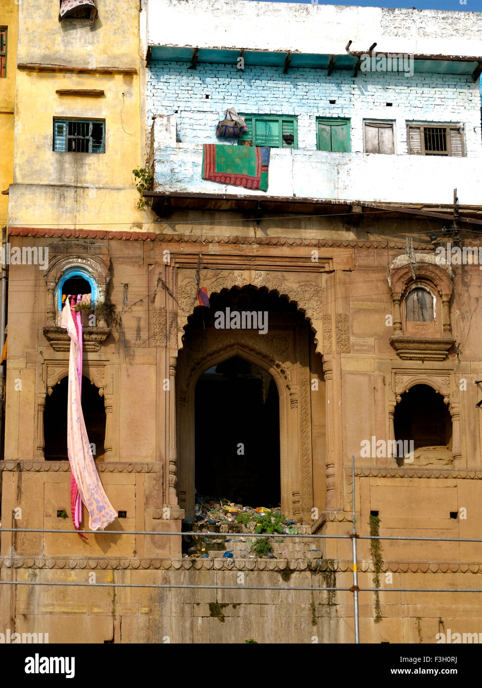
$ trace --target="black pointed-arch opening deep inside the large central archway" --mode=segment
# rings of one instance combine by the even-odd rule
[[[263,368],[239,356],[208,369],[195,394],[195,486],[250,506],[281,499],[279,396]]]

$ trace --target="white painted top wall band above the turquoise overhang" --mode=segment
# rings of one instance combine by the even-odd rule
[[[457,0],[454,0],[454,3]],[[283,50],[316,54],[366,51],[477,56],[482,13],[356,6],[149,0],[149,45]]]

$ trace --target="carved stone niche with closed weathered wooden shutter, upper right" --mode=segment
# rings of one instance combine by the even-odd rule
[[[452,269],[435,257],[399,256],[388,266],[393,303],[390,343],[403,360],[443,361],[454,343],[450,323]]]

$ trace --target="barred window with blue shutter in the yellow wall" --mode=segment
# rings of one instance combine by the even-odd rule
[[[105,153],[105,122],[54,120],[54,151]]]

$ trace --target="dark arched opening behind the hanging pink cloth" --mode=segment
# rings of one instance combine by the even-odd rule
[[[67,398],[68,378],[65,377],[52,389],[45,399],[43,413],[43,432],[45,438],[45,459],[52,461],[68,460],[67,455]],[[85,428],[93,449],[94,459],[104,455],[105,406],[95,385],[89,378],[82,378],[82,409]]]

